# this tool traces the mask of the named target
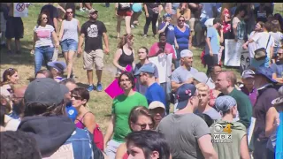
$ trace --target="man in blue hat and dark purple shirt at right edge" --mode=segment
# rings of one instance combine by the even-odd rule
[[[276,80],[272,79],[272,68],[258,67],[255,72],[255,88],[257,89],[256,104],[253,107],[253,117],[256,118],[254,128],[254,158],[268,158],[266,145],[269,140],[265,136],[266,114],[272,108],[272,100],[279,97],[278,91],[273,84]]]

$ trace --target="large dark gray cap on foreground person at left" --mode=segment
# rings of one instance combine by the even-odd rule
[[[57,83],[54,79],[34,79],[28,86],[24,95],[26,104],[59,104],[65,98],[69,89],[65,85]]]

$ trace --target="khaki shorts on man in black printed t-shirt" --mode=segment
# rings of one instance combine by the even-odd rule
[[[83,68],[85,70],[93,70],[95,64],[96,70],[103,70],[103,49],[91,50],[90,52],[83,52]]]

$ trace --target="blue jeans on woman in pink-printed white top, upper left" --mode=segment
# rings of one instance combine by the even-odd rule
[[[43,59],[46,67],[48,67],[47,63],[52,61],[53,53],[54,47],[50,46],[36,47],[34,49],[34,74],[42,69]]]

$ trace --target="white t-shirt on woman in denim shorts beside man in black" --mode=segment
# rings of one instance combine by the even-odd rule
[[[78,19],[72,19],[70,21],[63,20],[62,23],[63,23],[63,27],[64,27],[62,42],[65,39],[73,39],[76,42],[78,42],[78,25],[79,25],[79,20]]]

